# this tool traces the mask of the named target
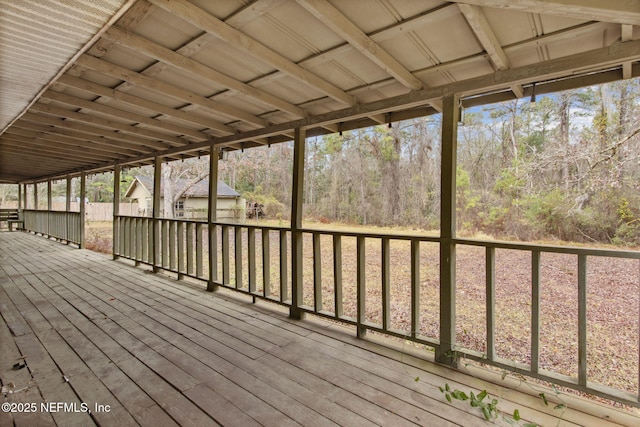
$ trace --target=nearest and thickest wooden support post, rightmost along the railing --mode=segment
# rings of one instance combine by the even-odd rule
[[[458,140],[457,96],[442,105],[442,154],[440,178],[440,345],[436,361],[456,365],[456,152]]]

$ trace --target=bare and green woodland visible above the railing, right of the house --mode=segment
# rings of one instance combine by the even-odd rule
[[[459,233],[640,244],[639,94],[636,79],[464,111]],[[439,120],[308,139],[305,218],[438,230]],[[292,156],[288,144],[233,152],[220,177],[286,214]]]

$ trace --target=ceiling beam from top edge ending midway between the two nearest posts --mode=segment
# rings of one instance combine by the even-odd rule
[[[230,25],[219,20],[215,16],[207,13],[199,7],[185,0],[149,0],[156,6],[165,11],[178,16],[187,21],[191,25],[206,31],[221,40],[231,44],[237,49],[241,49],[249,55],[270,64],[277,70],[280,70],[292,78],[309,85],[315,90],[323,93],[337,101],[347,105],[356,105],[356,100],[342,89],[334,86],[326,80],[318,77],[309,70],[306,70],[290,61],[286,57],[280,55],[274,50],[263,45],[259,41],[247,36],[246,34],[236,30]]]

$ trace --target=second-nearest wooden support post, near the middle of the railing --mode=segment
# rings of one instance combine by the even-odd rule
[[[293,146],[293,190],[291,194],[291,309],[289,316],[303,319],[302,284],[302,197],[304,188],[304,150],[306,129],[296,128]],[[282,256],[282,255],[281,255]]]

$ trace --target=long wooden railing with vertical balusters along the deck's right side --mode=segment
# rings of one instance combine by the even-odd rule
[[[114,255],[286,306],[291,306],[292,295],[297,292],[300,311],[352,324],[359,336],[366,331],[376,331],[433,349],[440,345],[439,237],[291,230],[219,222],[209,225],[204,221],[159,219],[155,220],[159,241],[154,254],[150,249],[154,241],[153,219],[118,216],[116,221],[120,231]],[[303,247],[298,261],[291,254],[292,236],[296,233]],[[635,352],[636,378],[630,379],[631,385],[624,390],[602,384],[606,381],[594,381],[590,374],[588,354],[592,343],[588,339],[587,296],[589,287],[602,286],[589,283],[588,270],[592,261],[601,264],[604,260],[609,265],[612,264],[610,260],[634,262],[640,259],[640,252],[470,239],[453,239],[452,243],[459,253],[460,271],[467,267],[462,265],[466,262],[465,251],[481,251],[480,258],[484,261],[479,263],[480,274],[476,271],[470,278],[459,274],[456,282],[460,296],[457,310],[461,311],[461,304],[469,304],[470,316],[476,317],[470,325],[462,320],[458,322],[455,357],[478,360],[506,371],[638,406],[638,295],[629,296],[630,301],[636,301],[636,307],[620,313],[629,317],[630,324],[636,325],[630,349],[618,349]],[[209,252],[210,248],[215,248],[213,253]],[[524,290],[519,292],[526,302],[515,308],[517,316],[513,318],[504,318],[504,313],[499,312],[503,305],[496,297],[497,288],[504,287],[496,278],[496,253],[502,255],[505,251],[517,252],[518,257],[530,266],[528,277],[516,279],[518,286],[523,286]],[[575,341],[575,345],[569,343],[568,350],[560,349],[566,354],[556,356],[576,359],[576,372],[556,369],[553,363],[546,361],[543,363],[547,350],[542,350],[541,342],[546,342],[547,332],[541,319],[542,314],[548,312],[548,308],[543,307],[548,299],[541,295],[548,292],[547,286],[543,286],[548,280],[545,272],[551,268],[546,266],[546,261],[554,256],[575,260],[575,263],[560,260],[567,277],[573,278],[571,283],[560,286],[575,296],[575,301],[570,298],[573,308],[563,309],[566,312],[561,313],[570,319],[570,324],[554,324],[553,327],[571,332],[566,339]],[[292,277],[293,262],[302,264],[297,269],[301,271],[299,279]],[[502,270],[513,268],[516,266],[501,266]],[[640,269],[636,271],[640,274]],[[469,291],[468,286],[473,290]],[[469,299],[462,294],[467,291],[477,295]],[[575,312],[572,311],[574,308]],[[505,356],[496,344],[496,335],[511,326],[520,331],[520,336],[516,332],[516,336],[509,339],[519,340],[522,357]],[[467,339],[474,333],[480,335],[479,342]]]

